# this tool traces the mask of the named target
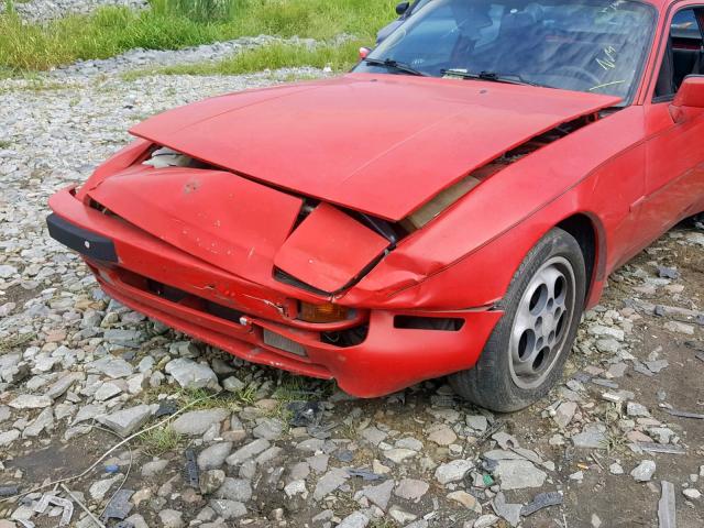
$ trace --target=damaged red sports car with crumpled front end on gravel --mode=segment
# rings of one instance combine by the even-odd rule
[[[704,210],[703,32],[702,0],[435,0],[348,75],[134,127],[50,232],[237,356],[519,409],[607,275]]]

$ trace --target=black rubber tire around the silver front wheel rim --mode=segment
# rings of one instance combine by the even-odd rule
[[[560,343],[558,343],[560,346],[556,346],[554,352],[548,352],[551,354],[551,365],[547,365],[541,375],[536,374],[535,383],[537,386],[519,386],[518,383],[524,383],[524,378],[516,374],[514,367],[517,364],[512,352],[515,346],[512,341],[514,322],[519,322],[517,319],[519,305],[524,311],[530,309],[532,297],[529,299],[527,297],[528,286],[534,287],[538,274],[542,273],[543,266],[551,262],[560,262],[564,266],[566,266],[565,263],[569,263],[572,267],[573,274],[570,276],[570,278],[573,276],[574,280],[570,294],[574,299],[571,307],[572,315],[565,328],[561,328],[560,322],[557,322],[561,336]],[[512,279],[506,296],[497,304],[497,308],[505,311],[504,317],[486,342],[476,365],[471,370],[450,376],[452,388],[473,404],[498,413],[522,409],[546,396],[562,376],[564,362],[574,345],[584,310],[586,282],[584,256],[576,240],[561,229],[552,229],[524,258]],[[532,296],[538,294],[532,294]],[[538,319],[542,321],[541,318]],[[551,318],[551,320],[553,319]],[[516,340],[515,337],[514,340]],[[522,336],[520,342],[524,342]],[[538,342],[542,343],[542,339]],[[512,346],[510,350],[509,346]],[[542,344],[538,346],[542,348]],[[541,376],[544,378],[542,380]]]

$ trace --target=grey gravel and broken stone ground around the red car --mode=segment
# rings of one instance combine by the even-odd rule
[[[563,384],[508,416],[442,380],[359,400],[233,360],[110,300],[47,237],[47,197],[131,124],[292,75],[323,74],[0,82],[0,494],[99,461],[66,484],[72,526],[94,525],[78,502],[100,515],[111,501],[107,524],[136,528],[657,527],[661,495],[678,526],[704,526],[704,420],[671,414],[704,413],[704,231],[616,273]],[[0,528],[56,526],[61,507],[35,512],[53,487],[0,498]]]

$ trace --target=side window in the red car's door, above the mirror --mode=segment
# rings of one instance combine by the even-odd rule
[[[702,21],[704,8],[688,8],[674,14],[656,86],[656,101],[674,97],[688,75],[704,75]]]

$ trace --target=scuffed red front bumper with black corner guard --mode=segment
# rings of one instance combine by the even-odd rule
[[[109,296],[238,358],[334,378],[343,391],[359,397],[389,394],[472,367],[503,315],[487,308],[432,312],[360,308],[344,328],[369,324],[365,339],[339,346],[323,342],[321,332],[344,328],[292,319],[295,300],[283,285],[274,289],[223,272],[86,206],[73,189],[55,194],[50,206],[54,211],[47,220],[50,234],[81,254]],[[397,328],[397,316],[464,322],[457,331]]]

